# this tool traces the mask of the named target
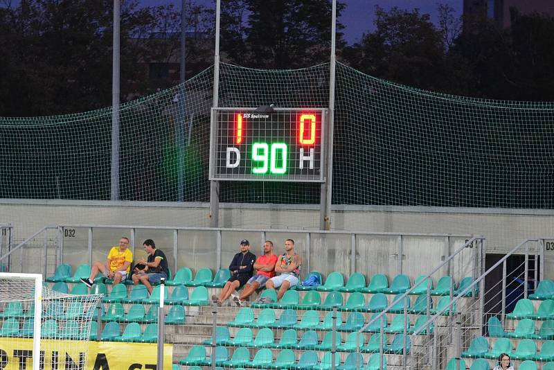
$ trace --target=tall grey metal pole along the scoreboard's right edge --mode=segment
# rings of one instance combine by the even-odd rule
[[[332,201],[332,179],[333,179],[333,126],[334,126],[334,81],[335,67],[337,64],[336,55],[336,35],[337,35],[337,0],[332,1],[331,16],[331,62],[329,77],[329,130],[327,134],[327,176],[325,182],[321,184],[321,209],[319,228],[321,230],[331,229],[331,201]]]

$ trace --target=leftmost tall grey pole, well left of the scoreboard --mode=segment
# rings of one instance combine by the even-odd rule
[[[119,200],[120,4],[114,0],[114,55],[111,64],[111,200]]]

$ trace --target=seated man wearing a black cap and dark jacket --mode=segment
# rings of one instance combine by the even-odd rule
[[[240,252],[235,254],[231,265],[229,265],[229,270],[231,270],[231,277],[229,281],[225,283],[225,286],[221,290],[221,295],[219,299],[214,294],[212,296],[213,301],[218,301],[222,303],[235,292],[247,283],[247,281],[252,277],[254,271],[254,262],[256,261],[256,256],[250,252],[250,243],[248,240],[240,240]]]

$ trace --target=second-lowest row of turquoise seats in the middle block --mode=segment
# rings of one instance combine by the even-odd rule
[[[287,329],[283,331],[280,340],[276,342],[274,332],[270,328],[260,329],[255,338],[250,328],[241,328],[231,338],[228,328],[218,326],[215,332],[215,344],[217,346],[330,351],[332,349],[332,335],[332,332],[325,333],[320,342],[316,331],[305,331],[301,335],[300,340],[298,340],[296,330]],[[378,353],[381,346],[383,346],[385,353],[402,353],[404,349],[403,333],[395,335],[391,342],[388,342],[388,339],[386,334],[375,333],[370,335],[366,342],[365,335],[353,332],[348,334],[343,342],[341,335],[336,333],[334,344],[339,352],[355,352],[359,344],[359,349],[362,353]],[[410,338],[406,337],[407,351],[410,349],[410,342]],[[203,344],[211,346],[213,344],[213,337],[210,340],[204,341]]]

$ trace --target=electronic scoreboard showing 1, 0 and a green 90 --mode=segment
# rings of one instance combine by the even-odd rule
[[[212,108],[210,179],[324,182],[327,109]]]

